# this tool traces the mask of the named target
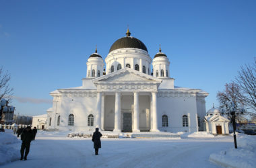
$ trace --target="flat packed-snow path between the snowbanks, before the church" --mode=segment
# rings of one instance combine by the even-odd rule
[[[232,137],[104,139],[98,156],[89,138],[38,137],[27,161],[2,167],[219,167],[208,159],[232,146]],[[17,148],[20,144],[17,144]]]

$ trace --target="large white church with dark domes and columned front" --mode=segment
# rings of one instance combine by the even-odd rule
[[[100,128],[113,132],[203,130],[208,93],[174,86],[168,56],[160,48],[152,60],[145,44],[130,35],[127,30],[125,37],[114,42],[105,62],[97,50],[90,55],[82,86],[50,93],[53,107],[47,110],[47,128]]]

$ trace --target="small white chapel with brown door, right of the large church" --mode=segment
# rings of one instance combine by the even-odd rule
[[[227,118],[220,115],[220,111],[214,108],[214,106],[208,110],[204,117],[205,130],[212,134],[229,134],[229,122]]]

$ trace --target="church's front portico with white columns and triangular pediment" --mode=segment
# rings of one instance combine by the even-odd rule
[[[161,80],[129,68],[116,73],[93,80],[96,127],[114,132],[158,131],[156,95]],[[102,103],[102,97],[107,101]]]

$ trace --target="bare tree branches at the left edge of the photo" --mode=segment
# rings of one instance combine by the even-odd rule
[[[9,81],[11,76],[8,71],[3,71],[3,67],[0,68],[0,99],[5,98],[8,101],[11,99],[13,88],[9,87]]]

